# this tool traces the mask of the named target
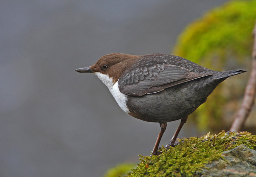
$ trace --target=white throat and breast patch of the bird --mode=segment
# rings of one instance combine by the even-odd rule
[[[127,95],[120,92],[118,88],[118,81],[116,83],[113,83],[113,79],[109,77],[109,75],[101,74],[100,72],[95,72],[96,76],[105,84],[110,93],[113,95],[113,97],[116,99],[116,102],[121,107],[123,111],[126,113],[130,113],[129,109],[126,106],[127,102]]]

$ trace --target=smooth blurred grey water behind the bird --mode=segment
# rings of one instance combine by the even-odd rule
[[[225,1],[1,0],[0,176],[97,177],[149,155],[159,124],[74,70],[113,52],[171,53],[188,23]],[[190,124],[179,138],[198,135]]]

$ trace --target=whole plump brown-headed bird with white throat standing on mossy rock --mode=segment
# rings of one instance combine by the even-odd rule
[[[173,145],[188,115],[206,101],[217,85],[229,76],[246,72],[218,72],[170,54],[123,53],[105,55],[94,65],[75,71],[96,74],[127,114],[160,123],[153,155],[157,155],[167,122],[181,119],[169,142]]]

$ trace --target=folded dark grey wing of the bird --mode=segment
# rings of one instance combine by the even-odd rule
[[[212,74],[191,72],[181,66],[149,62],[127,69],[120,77],[118,87],[124,94],[143,96],[208,75]]]

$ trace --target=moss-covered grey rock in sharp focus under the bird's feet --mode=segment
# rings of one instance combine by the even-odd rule
[[[235,133],[222,131],[217,135],[210,135],[208,133],[200,138],[191,137],[185,140],[179,140],[177,146],[170,147],[169,150],[162,149],[161,155],[152,157],[141,156],[141,162],[136,169],[132,169],[132,172],[127,173],[127,176],[192,177],[203,174],[206,176],[214,176],[216,174],[215,176],[218,176],[218,174],[221,174],[221,169],[230,167],[230,172],[233,171],[233,168],[236,168],[233,165],[238,164],[238,162],[245,164],[247,161],[248,163],[255,164],[255,159],[253,161],[255,156],[253,157],[252,152],[248,152],[250,150],[244,150],[244,146],[234,149],[240,145],[244,145],[251,150],[256,150],[256,136],[248,132]],[[231,149],[234,150],[228,151]],[[247,155],[241,155],[243,151],[247,151]],[[237,154],[234,152],[237,152]],[[209,175],[208,171],[211,169],[213,174]],[[249,169],[248,175],[253,175],[254,173],[256,174],[255,168]],[[241,174],[247,173],[241,172]]]

